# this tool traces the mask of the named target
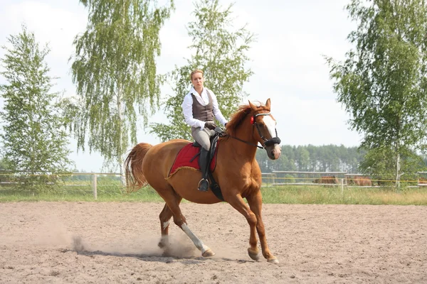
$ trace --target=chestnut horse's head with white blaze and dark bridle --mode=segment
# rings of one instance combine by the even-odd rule
[[[257,130],[253,131],[255,140],[265,148],[268,158],[277,160],[282,149],[279,145],[278,131],[275,128],[277,122],[270,114],[270,99],[265,102],[265,107],[256,107],[251,102],[249,106],[251,107],[251,124]]]

